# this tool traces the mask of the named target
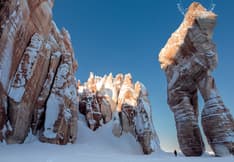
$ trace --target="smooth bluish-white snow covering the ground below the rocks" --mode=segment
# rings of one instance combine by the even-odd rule
[[[0,144],[0,162],[233,162],[234,157],[217,158],[210,155],[202,157],[174,157],[172,153],[158,151],[143,155],[139,144],[131,135],[120,139],[112,135],[112,123],[96,132],[79,122],[76,144],[65,146],[40,143],[36,137],[29,136],[25,144]]]

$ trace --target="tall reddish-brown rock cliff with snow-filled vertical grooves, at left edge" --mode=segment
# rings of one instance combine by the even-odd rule
[[[0,140],[74,142],[77,63],[68,32],[52,21],[51,0],[0,4]]]

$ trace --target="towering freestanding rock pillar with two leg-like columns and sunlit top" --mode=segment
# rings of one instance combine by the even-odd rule
[[[212,42],[215,23],[214,13],[192,3],[182,24],[159,54],[167,76],[168,104],[174,112],[180,148],[187,156],[198,156],[204,151],[198,126],[197,90],[205,101],[202,125],[209,144],[217,156],[233,154],[233,118],[210,75],[217,65]],[[224,148],[226,152],[222,151]]]

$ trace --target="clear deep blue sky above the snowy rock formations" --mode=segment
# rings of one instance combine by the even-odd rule
[[[77,79],[89,72],[131,73],[149,91],[161,147],[178,149],[173,113],[167,105],[166,77],[157,60],[183,20],[179,0],[55,0],[53,17],[69,30],[78,60]],[[208,0],[198,0],[209,7]],[[185,6],[191,0],[185,0]],[[226,106],[234,115],[234,1],[214,0],[218,23],[214,41],[219,64],[213,72]],[[200,99],[200,111],[203,102]],[[204,139],[205,140],[205,139]]]

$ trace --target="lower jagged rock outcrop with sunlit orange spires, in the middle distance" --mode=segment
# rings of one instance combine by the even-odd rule
[[[78,83],[79,111],[87,125],[96,130],[113,119],[113,134],[132,134],[145,154],[159,149],[152,122],[152,110],[145,86],[132,81],[130,74],[104,77],[90,74],[87,82]]]

